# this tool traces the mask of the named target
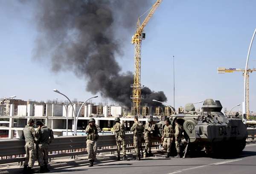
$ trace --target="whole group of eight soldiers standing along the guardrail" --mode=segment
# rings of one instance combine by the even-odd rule
[[[48,147],[52,142],[53,132],[50,128],[47,128],[43,122],[36,122],[37,131],[34,129],[34,120],[29,119],[28,125],[23,129],[23,139],[25,139],[25,150],[26,150],[26,159],[24,162],[23,174],[32,173],[32,167],[34,166],[35,159],[38,159],[38,164],[40,166],[39,173],[44,173],[49,171],[48,164]],[[136,160],[140,160],[142,150],[142,141],[145,140],[145,157],[152,157],[151,152],[152,146],[152,137],[155,125],[153,124],[153,119],[149,118],[148,122],[141,124],[138,121],[138,117],[134,117],[134,124],[131,127],[133,131],[133,142],[136,152]],[[123,160],[129,160],[126,156],[126,142],[125,142],[125,126],[120,123],[119,117],[115,118],[115,125],[113,126],[113,131],[115,133],[116,146],[117,146],[117,160],[120,160],[120,151],[122,146],[123,151]],[[183,128],[175,120],[175,129],[169,122],[169,119],[165,120],[165,126],[163,128],[163,136],[161,140],[163,142],[163,148],[167,151],[166,158],[169,158],[171,155],[171,145],[172,141],[175,138],[175,146],[177,150],[177,156],[181,157],[180,151],[180,142],[182,136]],[[85,129],[87,134],[86,148],[88,153],[89,167],[93,166],[93,163],[96,159],[96,150],[97,150],[97,140],[99,139],[99,132],[101,129],[98,125],[95,124],[95,119],[90,118],[89,124]]]

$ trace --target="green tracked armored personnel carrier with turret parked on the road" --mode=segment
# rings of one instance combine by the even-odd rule
[[[246,125],[236,116],[227,117],[221,112],[220,101],[206,99],[201,111],[195,111],[192,103],[186,104],[184,111],[169,116],[173,127],[177,120],[183,126],[189,151],[205,150],[207,154],[239,154],[245,147]],[[157,124],[161,134],[163,122]]]

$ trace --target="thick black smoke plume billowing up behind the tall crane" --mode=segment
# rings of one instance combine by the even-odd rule
[[[130,107],[133,73],[121,73],[115,57],[122,55],[122,42],[116,33],[122,30],[133,33],[137,17],[153,3],[152,0],[37,1],[34,57],[49,57],[52,71],[72,71],[87,81],[87,91]],[[156,104],[152,99],[167,100],[162,91],[154,92],[148,87],[143,88],[142,95],[149,106]]]

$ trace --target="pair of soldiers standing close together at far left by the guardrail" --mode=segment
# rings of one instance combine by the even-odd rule
[[[23,129],[22,139],[25,139],[26,158],[24,162],[23,174],[33,173],[32,167],[34,166],[35,159],[38,159],[40,166],[39,173],[48,172],[49,161],[49,144],[54,139],[52,129],[47,128],[43,122],[36,122],[37,131],[34,128],[35,121],[29,119],[28,125]]]

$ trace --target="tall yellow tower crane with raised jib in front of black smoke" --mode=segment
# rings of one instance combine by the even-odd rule
[[[141,84],[140,84],[141,41],[142,41],[142,39],[145,39],[145,33],[143,33],[143,30],[144,30],[144,27],[147,25],[148,21],[150,20],[150,18],[152,17],[152,15],[154,14],[154,12],[156,11],[157,7],[160,5],[161,2],[162,2],[162,0],[157,0],[157,2],[154,3],[154,5],[149,9],[150,12],[148,13],[147,17],[145,18],[145,20],[143,21],[143,23],[141,25],[140,25],[140,17],[138,18],[137,29],[136,29],[136,32],[132,36],[132,39],[131,39],[131,43],[134,44],[134,46],[135,46],[134,47],[135,48],[134,83],[131,84],[131,87],[133,88],[133,95],[131,95],[131,99],[133,101],[132,115],[140,115],[140,101],[142,99]]]

